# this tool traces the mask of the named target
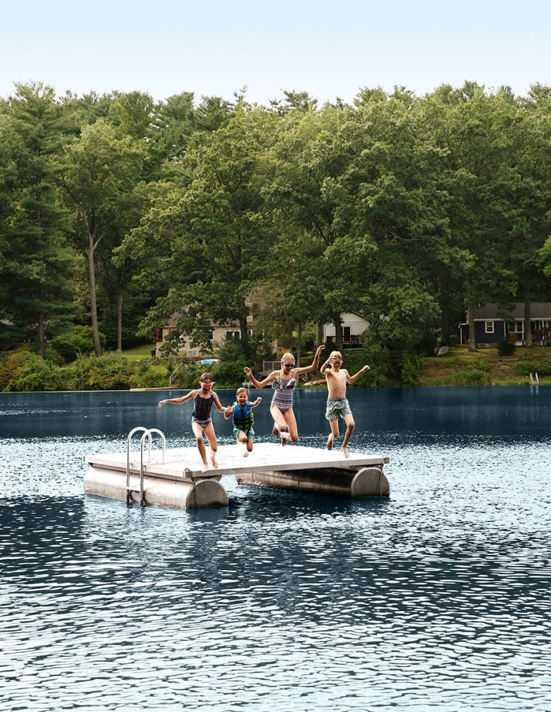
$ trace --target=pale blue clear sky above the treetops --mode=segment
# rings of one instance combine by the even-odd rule
[[[551,85],[550,0],[12,0],[0,19],[0,97],[184,91],[268,105],[362,88]]]

